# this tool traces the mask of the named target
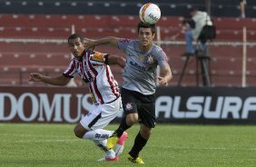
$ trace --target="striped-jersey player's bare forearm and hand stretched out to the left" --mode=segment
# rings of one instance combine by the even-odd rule
[[[61,86],[67,84],[69,81],[70,78],[64,77],[64,75],[60,75],[58,77],[50,77],[38,73],[31,73],[29,78],[29,82],[42,82]]]

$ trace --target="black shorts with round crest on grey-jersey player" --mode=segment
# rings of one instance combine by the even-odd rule
[[[155,126],[155,96],[144,95],[122,88],[122,103],[125,114],[138,113],[139,123],[153,128]]]

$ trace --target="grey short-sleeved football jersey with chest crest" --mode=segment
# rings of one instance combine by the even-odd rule
[[[142,52],[137,40],[124,38],[117,42],[117,46],[126,55],[123,88],[145,95],[155,93],[157,65],[161,67],[168,64],[162,48],[153,44],[148,52]]]

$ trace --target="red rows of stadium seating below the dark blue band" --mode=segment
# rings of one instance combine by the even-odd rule
[[[157,23],[160,26],[161,40],[184,41],[182,32],[182,17],[162,16]],[[70,52],[67,44],[44,43],[44,39],[66,40],[72,33],[72,25],[76,33],[84,34],[88,38],[102,38],[104,36],[117,36],[137,38],[136,25],[138,16],[129,15],[1,15],[0,38],[31,38],[43,39],[40,43],[9,43],[0,42],[0,84],[19,84],[19,74],[26,76],[27,83],[30,72],[47,74],[60,74],[69,64]],[[213,23],[217,28],[215,42],[242,42],[242,27],[247,27],[249,42],[256,41],[255,18],[225,18],[215,17]],[[182,72],[184,58],[181,54],[184,45],[165,45],[162,49],[170,59],[173,80],[176,85]],[[97,51],[123,56],[123,53],[110,46],[96,47]],[[254,54],[256,47],[247,46],[247,81],[248,85],[255,85]],[[211,71],[213,86],[241,86],[241,44],[210,45],[212,54]],[[194,86],[196,84],[196,62],[191,59],[182,85]],[[119,83],[123,82],[122,70],[112,67],[113,74]],[[9,75],[8,75],[9,74]],[[8,76],[7,76],[8,75]],[[78,83],[83,85],[83,82]],[[44,85],[44,84],[43,84]]]

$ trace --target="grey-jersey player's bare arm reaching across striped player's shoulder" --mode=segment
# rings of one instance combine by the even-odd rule
[[[111,45],[117,47],[118,40],[119,40],[119,38],[114,37],[114,36],[108,36],[108,37],[98,39],[98,40],[87,39],[84,41],[84,48],[90,49],[90,48],[94,48],[95,46],[101,45],[101,44],[111,44]]]

